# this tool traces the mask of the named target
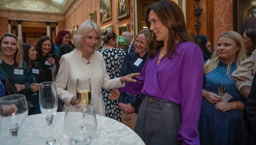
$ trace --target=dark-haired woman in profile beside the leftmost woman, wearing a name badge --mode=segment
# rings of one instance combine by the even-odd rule
[[[42,69],[39,67],[39,62],[36,62],[35,60],[37,59],[37,51],[35,50],[34,46],[31,44],[22,44],[22,48],[24,51],[24,60],[28,64],[28,80],[30,82],[30,94],[29,94],[29,99],[34,103],[35,105],[35,110],[29,115],[33,114],[39,114],[41,113],[40,107],[39,107],[39,96],[38,96],[38,90],[39,90],[39,84],[44,81],[44,73]],[[36,78],[37,82],[33,82],[34,77]],[[34,93],[36,92],[36,93]],[[37,94],[37,95],[34,95]]]

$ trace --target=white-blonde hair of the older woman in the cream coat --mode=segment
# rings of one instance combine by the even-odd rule
[[[77,30],[77,32],[75,33],[75,35],[73,37],[73,44],[75,45],[76,49],[78,49],[78,50],[82,49],[84,37],[86,35],[88,35],[91,32],[91,30],[93,30],[93,29],[96,31],[97,35],[99,36],[99,43],[96,46],[96,50],[100,47],[101,41],[102,41],[102,34],[101,34],[100,27],[93,21],[86,20],[80,26],[80,28]]]

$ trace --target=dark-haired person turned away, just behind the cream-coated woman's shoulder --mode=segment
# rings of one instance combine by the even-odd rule
[[[72,52],[72,46],[69,44],[62,44],[59,47],[59,54],[55,56],[55,66],[52,68],[52,79],[55,82],[56,76],[59,71],[59,61],[62,55]]]

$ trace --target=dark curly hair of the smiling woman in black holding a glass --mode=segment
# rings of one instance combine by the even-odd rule
[[[44,41],[51,41],[51,50],[49,53],[53,54],[53,56],[55,56],[55,48],[54,48],[54,43],[52,41],[52,39],[49,36],[43,36],[42,38],[40,38],[37,42],[37,45],[35,45],[35,50],[37,51],[37,60],[41,60],[43,58],[43,52],[42,52],[42,44]],[[54,58],[54,57],[53,57]]]

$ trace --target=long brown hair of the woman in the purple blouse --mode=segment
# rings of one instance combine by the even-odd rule
[[[166,54],[168,58],[172,58],[172,54],[177,55],[175,49],[177,42],[192,41],[192,37],[186,27],[183,12],[175,2],[170,0],[161,0],[151,4],[145,12],[145,22],[149,29],[151,26],[148,19],[150,11],[154,11],[160,22],[169,30]],[[153,58],[163,45],[163,41],[156,41],[154,35],[148,45],[148,57]]]

